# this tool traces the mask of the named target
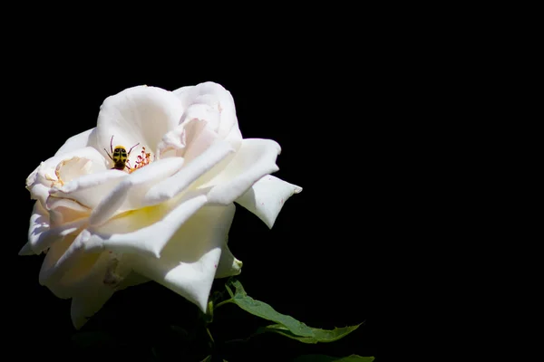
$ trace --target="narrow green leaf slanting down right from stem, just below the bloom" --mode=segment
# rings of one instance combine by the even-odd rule
[[[246,310],[249,313],[260,317],[262,319],[271,320],[273,322],[280,323],[282,327],[287,329],[287,332],[300,337],[313,338],[316,337],[314,330],[306,326],[306,324],[294,319],[293,317],[285,314],[278,313],[270,305],[263,301],[254,300],[248,296],[248,293],[244,291],[244,287],[239,281],[230,281],[230,284],[236,288],[233,293],[228,285],[228,294],[232,298],[230,301],[238,305],[242,310]]]

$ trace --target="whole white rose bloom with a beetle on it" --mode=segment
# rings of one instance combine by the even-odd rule
[[[122,90],[103,101],[95,128],[28,176],[36,201],[20,254],[45,253],[39,282],[72,299],[76,329],[114,291],[145,281],[206,311],[214,278],[242,266],[227,245],[233,203],[272,227],[302,190],[270,175],[279,152],[273,140],[242,138],[217,83]]]

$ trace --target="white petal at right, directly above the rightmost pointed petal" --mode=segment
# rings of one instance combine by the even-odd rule
[[[203,186],[213,186],[210,204],[228,205],[261,177],[276,172],[281,148],[271,139],[247,138],[223,172]]]

